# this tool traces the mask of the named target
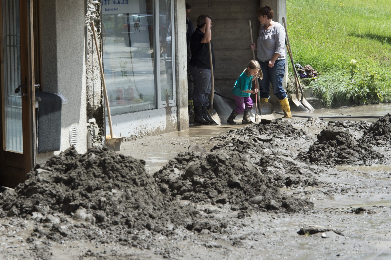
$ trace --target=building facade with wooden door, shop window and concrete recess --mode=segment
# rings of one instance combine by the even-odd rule
[[[251,59],[248,19],[285,0],[189,0],[190,19],[213,16],[216,91],[227,94]],[[188,129],[185,0],[0,0],[0,185],[15,187],[36,164],[113,134]],[[95,48],[91,21],[97,31]]]

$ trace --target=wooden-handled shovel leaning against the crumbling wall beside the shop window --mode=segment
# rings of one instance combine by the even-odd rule
[[[103,84],[104,100],[105,100],[106,108],[107,108],[107,117],[109,119],[110,139],[106,140],[106,146],[110,150],[114,150],[116,152],[119,152],[121,150],[121,141],[122,141],[122,139],[124,139],[124,137],[115,137],[113,135],[113,126],[111,124],[111,113],[110,113],[110,107],[109,107],[109,98],[107,96],[106,82],[104,81],[103,66],[102,66],[102,61],[100,60],[98,41],[97,41],[96,32],[95,32],[95,25],[94,25],[93,21],[91,21],[91,28],[92,28],[92,32],[94,34],[95,48],[97,49],[99,68],[100,68],[100,76],[102,78],[102,84]]]

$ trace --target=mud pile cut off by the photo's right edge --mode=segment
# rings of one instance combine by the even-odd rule
[[[391,146],[391,113],[373,122],[360,141],[376,146]]]

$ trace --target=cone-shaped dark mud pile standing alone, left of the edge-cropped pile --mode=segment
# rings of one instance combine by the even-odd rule
[[[317,136],[307,152],[300,152],[298,159],[306,163],[334,166],[335,164],[369,164],[381,161],[384,156],[368,144],[357,142],[343,127],[329,124]]]

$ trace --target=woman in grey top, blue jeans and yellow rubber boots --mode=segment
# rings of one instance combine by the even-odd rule
[[[261,102],[268,102],[270,95],[270,83],[273,94],[278,98],[284,112],[283,118],[292,118],[291,108],[285,90],[282,87],[282,79],[285,73],[285,29],[273,21],[273,10],[269,5],[264,5],[256,11],[261,28],[256,44],[250,44],[250,50],[257,50],[256,56],[263,73],[259,80],[259,96]],[[256,48],[258,46],[258,48]]]

